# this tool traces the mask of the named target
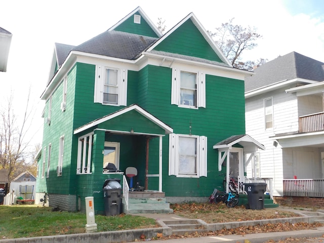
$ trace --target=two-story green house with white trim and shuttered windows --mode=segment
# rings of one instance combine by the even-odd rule
[[[56,43],[41,96],[38,199],[48,193],[50,206],[85,211],[93,196],[103,214],[103,185],[117,178],[124,212],[134,193],[147,211],[154,201],[168,211],[169,203],[206,201],[223,190],[224,175],[242,180],[246,155],[262,148],[245,135],[247,75],[192,13],[161,34],[138,7],[79,46]],[[109,163],[121,172],[104,169]]]

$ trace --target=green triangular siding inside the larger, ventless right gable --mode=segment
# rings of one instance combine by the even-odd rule
[[[190,19],[158,44],[154,50],[223,62]]]

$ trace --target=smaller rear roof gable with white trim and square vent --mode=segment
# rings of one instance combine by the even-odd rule
[[[108,31],[122,31],[150,37],[160,37],[161,32],[147,17],[140,7],[121,19],[118,23],[108,29]]]

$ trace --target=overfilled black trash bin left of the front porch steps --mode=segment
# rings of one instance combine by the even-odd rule
[[[119,183],[120,179],[107,179],[102,186],[106,216],[117,215],[121,212],[122,189]]]

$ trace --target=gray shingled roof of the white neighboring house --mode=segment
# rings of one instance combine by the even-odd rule
[[[254,70],[255,75],[245,78],[245,92],[286,79],[304,78],[323,81],[323,65],[323,62],[316,61],[297,52],[291,52],[256,68]]]

